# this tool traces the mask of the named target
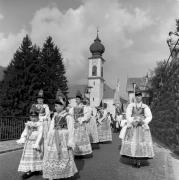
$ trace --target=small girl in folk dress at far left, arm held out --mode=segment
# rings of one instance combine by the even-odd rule
[[[18,171],[25,172],[23,178],[28,178],[33,172],[42,170],[42,134],[43,125],[39,121],[38,110],[36,106],[32,106],[30,109],[30,121],[25,123],[25,130],[21,138],[17,140],[18,144],[25,143],[18,168]]]

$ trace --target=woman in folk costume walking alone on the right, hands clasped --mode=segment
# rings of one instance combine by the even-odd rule
[[[142,103],[140,89],[135,92],[136,102],[126,110],[127,129],[122,141],[120,154],[132,157],[134,165],[140,167],[141,159],[154,157],[149,122],[152,120],[150,108]]]

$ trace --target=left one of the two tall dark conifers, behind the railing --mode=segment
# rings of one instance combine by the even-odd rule
[[[37,62],[37,48],[32,46],[28,35],[22,41],[8,65],[1,84],[1,115],[27,115],[32,103],[32,66]]]

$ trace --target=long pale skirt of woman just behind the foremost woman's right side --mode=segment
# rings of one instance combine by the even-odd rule
[[[91,154],[92,148],[85,123],[81,125],[75,124],[74,136],[75,136],[74,155],[83,156],[83,155]]]

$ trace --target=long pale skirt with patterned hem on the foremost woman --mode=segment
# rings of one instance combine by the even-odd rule
[[[60,152],[57,151],[55,137],[48,136],[43,159],[43,178],[61,179],[74,176],[77,168],[72,150],[68,150],[68,132],[59,132]]]

